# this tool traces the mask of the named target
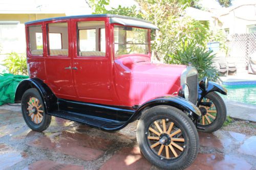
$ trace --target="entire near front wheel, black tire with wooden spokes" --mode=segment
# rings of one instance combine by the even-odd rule
[[[155,106],[143,112],[137,141],[144,157],[164,169],[188,167],[199,150],[195,125],[185,113],[170,106]]]

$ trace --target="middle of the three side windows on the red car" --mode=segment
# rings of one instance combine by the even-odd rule
[[[48,25],[48,54],[50,56],[69,55],[68,23],[49,23]]]

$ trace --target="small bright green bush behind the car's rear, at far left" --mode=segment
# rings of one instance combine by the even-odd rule
[[[3,62],[3,65],[7,67],[11,74],[28,75],[27,59],[24,54],[18,55],[15,52],[9,53]]]

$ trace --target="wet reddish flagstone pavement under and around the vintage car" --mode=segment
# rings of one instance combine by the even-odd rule
[[[0,109],[0,169],[158,169],[140,154],[136,122],[115,133],[61,118],[31,131],[22,114]],[[256,169],[256,136],[199,133],[200,152],[188,169]]]

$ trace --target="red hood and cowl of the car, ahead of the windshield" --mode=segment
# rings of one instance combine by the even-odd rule
[[[187,67],[153,64],[150,58],[138,56],[116,59],[115,65],[117,89],[129,93],[126,96],[133,102],[131,105],[141,105],[159,96],[177,92],[181,84],[181,74]]]

